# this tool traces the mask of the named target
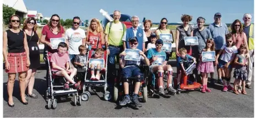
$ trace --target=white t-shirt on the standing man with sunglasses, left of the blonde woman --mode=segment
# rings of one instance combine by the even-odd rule
[[[65,32],[65,39],[68,40],[69,47],[68,53],[69,54],[80,54],[78,47],[83,43],[83,38],[85,38],[85,31],[83,29],[78,28],[74,30],[70,28]]]

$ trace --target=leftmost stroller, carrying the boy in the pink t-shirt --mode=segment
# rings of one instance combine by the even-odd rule
[[[57,99],[59,99],[61,95],[64,95],[66,98],[68,98],[70,94],[73,94],[74,104],[81,105],[81,96],[78,95],[77,89],[70,88],[69,90],[64,90],[63,86],[64,86],[64,83],[66,83],[66,79],[63,76],[57,76],[55,74],[52,74],[52,71],[51,71],[52,64],[50,63],[52,53],[48,53],[48,52],[46,53],[47,53],[49,77],[50,77],[50,80],[48,81],[48,88],[46,90],[46,95],[45,95],[46,99],[50,98],[48,99],[48,104],[47,104],[48,109],[51,109],[51,106],[52,106],[52,109],[56,109]],[[70,64],[70,61],[69,61],[69,64]],[[72,87],[74,85],[69,84],[69,86]]]

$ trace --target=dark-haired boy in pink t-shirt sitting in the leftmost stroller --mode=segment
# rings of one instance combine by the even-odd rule
[[[74,84],[74,89],[78,89],[78,83],[75,83],[72,78],[77,74],[77,69],[69,69],[69,56],[67,53],[68,45],[64,42],[58,44],[58,52],[51,56],[52,71],[57,76],[64,76],[67,82],[64,84],[64,89],[69,90],[69,82]],[[66,65],[66,67],[65,67]],[[70,73],[70,76],[68,75]]]

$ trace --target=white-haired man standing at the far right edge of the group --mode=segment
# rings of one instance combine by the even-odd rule
[[[246,13],[243,15],[243,31],[246,33],[247,42],[249,47],[249,61],[248,61],[248,80],[246,81],[246,87],[251,88],[252,74],[253,74],[253,61],[254,61],[254,27],[250,22],[252,21],[252,15]]]

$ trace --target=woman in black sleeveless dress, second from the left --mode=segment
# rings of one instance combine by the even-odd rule
[[[30,67],[26,75],[26,87],[28,87],[28,97],[37,98],[37,95],[32,93],[35,74],[37,68],[40,66],[40,50],[39,50],[39,36],[36,33],[37,25],[34,17],[29,17],[24,21],[23,31],[29,46]]]

